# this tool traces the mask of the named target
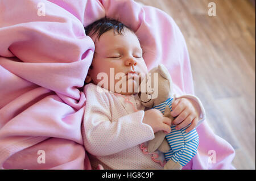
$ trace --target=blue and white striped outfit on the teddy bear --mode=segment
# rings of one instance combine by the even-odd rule
[[[153,108],[164,113],[166,106],[168,106],[172,111],[172,100],[173,98],[169,98],[166,102],[156,105]],[[176,125],[171,125],[172,131],[166,135],[166,139],[171,146],[170,151],[164,154],[166,161],[172,159],[174,162],[179,162],[180,165],[185,166],[196,155],[199,145],[199,136],[196,129],[188,133],[185,132],[189,125],[180,130],[175,129]]]

